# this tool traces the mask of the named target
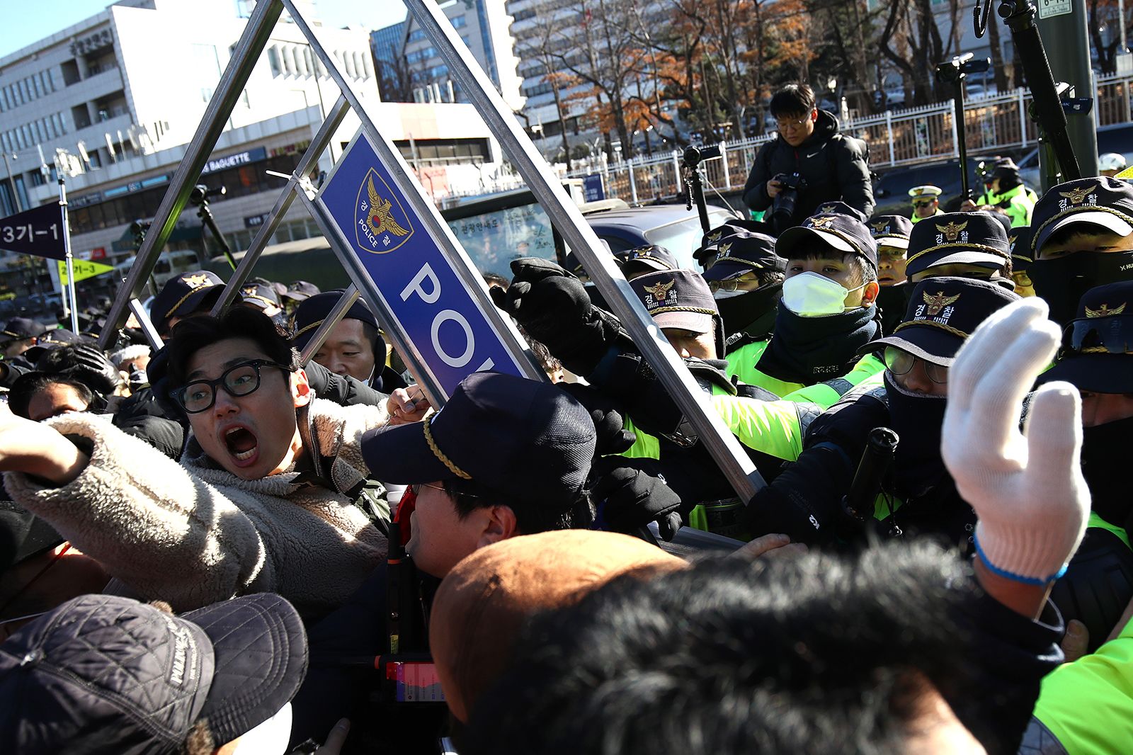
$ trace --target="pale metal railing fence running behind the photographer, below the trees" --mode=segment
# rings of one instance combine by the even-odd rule
[[[1133,121],[1133,75],[1115,74],[1098,78],[1094,112],[1098,126]],[[1031,94],[1019,88],[1002,94],[976,96],[964,102],[965,141],[970,153],[988,154],[1025,150],[1038,144],[1038,130],[1028,116]],[[960,155],[953,101],[842,122],[842,133],[869,145],[872,168],[889,168],[956,158]],[[705,161],[707,184],[721,192],[743,187],[759,146],[774,138],[766,134],[753,138],[721,142],[721,159]],[[583,161],[569,173],[582,177],[598,173],[607,197],[631,204],[648,203],[678,195],[682,190],[680,152],[638,156],[617,163],[605,153]]]

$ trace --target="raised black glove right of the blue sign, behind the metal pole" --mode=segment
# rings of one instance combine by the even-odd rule
[[[590,374],[621,329],[617,319],[590,303],[582,281],[548,260],[523,257],[506,291],[492,288],[492,300],[568,370]]]

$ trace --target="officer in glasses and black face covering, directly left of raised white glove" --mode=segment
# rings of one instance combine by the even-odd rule
[[[786,533],[815,544],[878,534],[932,535],[968,548],[976,517],[940,458],[948,368],[991,313],[1020,297],[994,282],[932,278],[918,283],[904,321],[863,350],[880,353],[884,385],[847,396],[815,419],[803,451],[747,508],[752,535]],[[875,427],[898,436],[891,472],[864,520],[843,507]],[[876,519],[880,521],[874,520]]]

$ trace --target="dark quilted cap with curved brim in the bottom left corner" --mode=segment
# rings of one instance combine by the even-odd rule
[[[0,752],[178,753],[199,719],[220,746],[287,705],[306,671],[303,622],[279,595],[180,617],[84,595],[0,645]]]

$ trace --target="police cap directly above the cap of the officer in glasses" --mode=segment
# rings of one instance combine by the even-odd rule
[[[946,212],[913,226],[905,274],[911,279],[929,268],[961,263],[1006,268],[1010,258],[1007,231],[998,220],[986,212]]]

